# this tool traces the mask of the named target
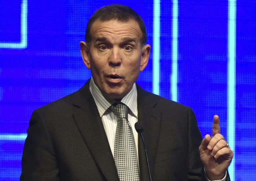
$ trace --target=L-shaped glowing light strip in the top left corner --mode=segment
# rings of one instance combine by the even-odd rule
[[[22,0],[20,14],[20,42],[1,42],[0,48],[24,49],[27,48],[27,16],[28,1]]]

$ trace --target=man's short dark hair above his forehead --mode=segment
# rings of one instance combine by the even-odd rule
[[[88,46],[90,46],[91,42],[90,30],[92,24],[96,20],[109,21],[113,19],[116,19],[121,22],[126,22],[130,19],[134,19],[135,21],[137,21],[142,32],[141,46],[145,45],[147,41],[147,33],[142,18],[132,8],[128,6],[112,4],[98,9],[89,19],[85,33],[85,41],[88,44]]]

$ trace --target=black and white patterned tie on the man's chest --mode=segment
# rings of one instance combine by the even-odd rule
[[[118,118],[115,135],[114,160],[120,181],[139,181],[137,151],[128,121],[128,107],[125,104],[113,104],[110,110]]]

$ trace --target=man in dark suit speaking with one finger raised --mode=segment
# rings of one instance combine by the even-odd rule
[[[99,9],[87,24],[85,39],[80,42],[81,54],[92,78],[77,92],[33,112],[20,180],[148,181],[145,150],[134,128],[137,121],[144,125],[152,180],[229,180],[233,152],[219,134],[218,116],[213,118],[212,137],[206,135],[201,142],[190,108],[135,84],[150,52],[136,12],[122,5]],[[128,110],[122,124],[132,130],[129,144],[135,148],[130,153],[135,162],[125,169],[122,164],[132,159],[117,156],[123,144],[117,136],[123,132],[123,118],[113,108],[117,105]]]

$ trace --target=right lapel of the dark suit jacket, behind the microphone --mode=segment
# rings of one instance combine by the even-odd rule
[[[161,115],[157,110],[157,100],[155,100],[151,93],[144,91],[137,85],[138,92],[138,121],[142,122],[144,127],[144,139],[146,143],[148,159],[151,174],[153,174],[155,156],[159,141]],[[149,180],[149,173],[146,162],[145,149],[141,137],[138,138],[139,149],[139,165],[141,181]],[[153,175],[152,175],[153,177]]]

